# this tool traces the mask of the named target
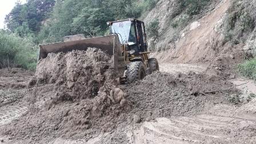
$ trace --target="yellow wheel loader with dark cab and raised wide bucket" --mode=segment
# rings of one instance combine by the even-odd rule
[[[87,50],[96,47],[113,55],[113,68],[118,72],[119,82],[133,82],[143,79],[153,71],[159,70],[158,61],[149,58],[145,24],[135,18],[107,22],[110,34],[103,37],[85,38],[83,35],[64,37],[64,42],[39,45],[39,58],[49,53]]]

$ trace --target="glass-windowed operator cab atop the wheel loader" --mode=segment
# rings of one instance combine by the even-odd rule
[[[145,24],[135,18],[122,21],[107,22],[110,34],[117,34],[122,45],[128,47],[131,55],[139,55],[147,51]]]

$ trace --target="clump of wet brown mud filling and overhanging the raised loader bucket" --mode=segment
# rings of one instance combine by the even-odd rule
[[[50,54],[39,62],[35,80],[39,84],[54,83],[56,102],[93,98],[103,85],[114,86],[112,63],[109,55],[95,48]]]

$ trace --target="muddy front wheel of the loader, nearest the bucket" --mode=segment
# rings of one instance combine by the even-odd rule
[[[131,62],[127,66],[127,82],[134,82],[136,79],[143,79],[146,77],[146,70],[143,62]]]

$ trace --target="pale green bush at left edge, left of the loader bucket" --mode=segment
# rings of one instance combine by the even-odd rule
[[[37,47],[32,38],[21,38],[6,31],[0,31],[0,62],[2,67],[19,66],[34,70],[37,63]]]

